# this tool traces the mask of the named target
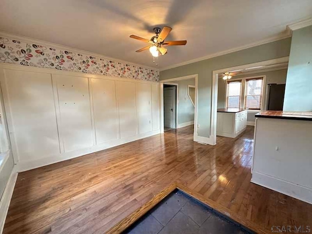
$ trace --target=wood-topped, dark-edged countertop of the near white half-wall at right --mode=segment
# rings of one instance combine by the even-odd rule
[[[255,115],[260,118],[298,119],[312,121],[311,111],[261,111]]]

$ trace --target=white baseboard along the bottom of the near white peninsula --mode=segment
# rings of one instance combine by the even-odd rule
[[[312,189],[310,188],[293,184],[291,182],[274,178],[259,172],[253,172],[251,182],[312,204]]]

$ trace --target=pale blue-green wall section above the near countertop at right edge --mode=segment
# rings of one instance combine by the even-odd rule
[[[312,111],[312,26],[292,32],[283,109]]]

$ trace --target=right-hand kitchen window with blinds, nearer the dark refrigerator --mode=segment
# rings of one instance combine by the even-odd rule
[[[263,78],[246,79],[245,108],[260,110],[262,101]]]

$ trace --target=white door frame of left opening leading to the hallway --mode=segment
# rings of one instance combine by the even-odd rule
[[[198,74],[160,80],[160,133],[164,133],[164,83],[173,84],[174,81],[195,78],[195,110],[194,110],[194,136],[197,136],[197,95],[198,95]],[[176,89],[176,126],[178,126],[178,89]]]

